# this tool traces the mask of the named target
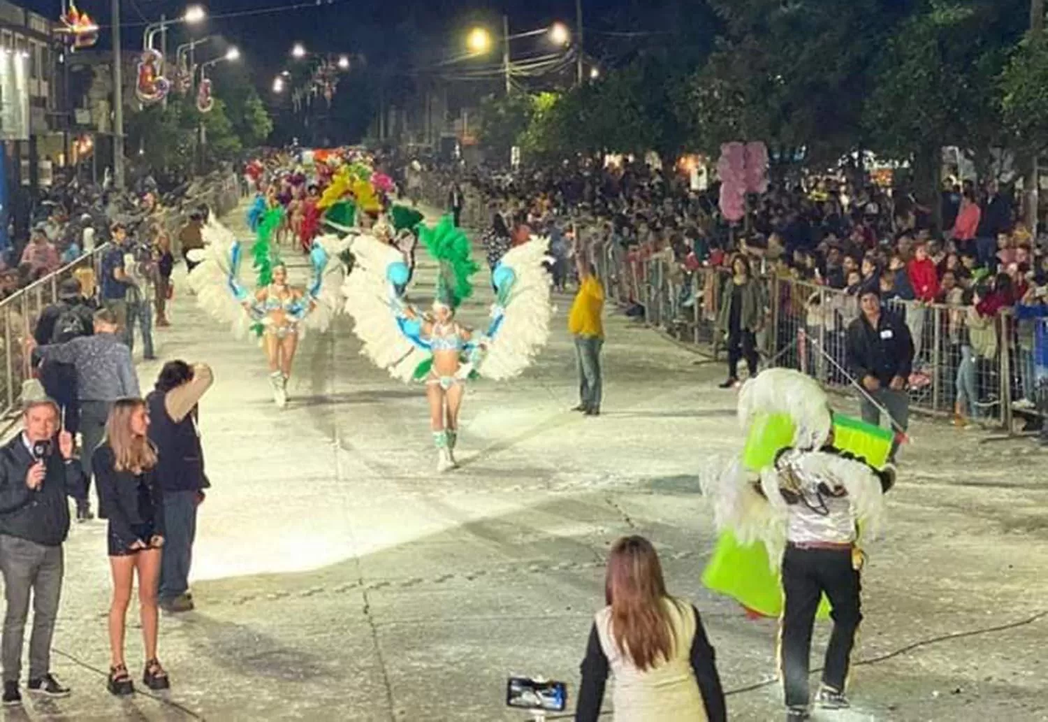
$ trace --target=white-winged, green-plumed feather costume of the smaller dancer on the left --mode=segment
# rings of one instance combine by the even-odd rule
[[[255,242],[249,248],[252,264],[257,272],[257,288],[268,289],[272,271],[283,265],[270,243],[272,234],[283,220],[283,210],[272,209],[259,219]],[[310,281],[299,298],[260,299],[252,293],[240,280],[240,269],[245,254],[244,245],[236,236],[212,217],[202,228],[204,248],[191,251],[191,259],[200,264],[189,276],[189,283],[196,292],[197,305],[222,323],[230,324],[238,338],[248,334],[261,338],[272,333],[278,338],[296,334],[305,337],[306,329],[323,333],[341,310],[340,286],[344,266],[337,254],[345,242],[337,236],[321,236],[313,240],[309,251]],[[275,323],[280,312],[283,324]],[[277,376],[280,378],[277,378]],[[286,402],[287,377],[280,371],[272,374],[274,394],[279,406]]]

